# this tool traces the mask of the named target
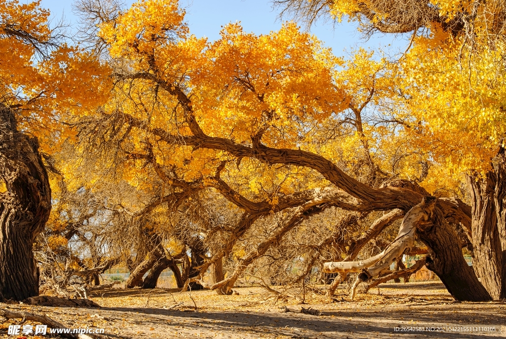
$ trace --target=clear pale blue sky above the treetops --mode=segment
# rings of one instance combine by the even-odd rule
[[[129,5],[133,1],[126,0],[126,3]],[[76,18],[72,14],[71,4],[71,1],[42,0],[41,6],[51,10],[56,20],[63,14],[66,22],[72,25]],[[221,26],[229,22],[240,21],[244,31],[256,34],[278,30],[282,24],[270,0],[180,0],[180,6],[186,8],[186,20],[191,33],[198,37],[206,36],[210,41],[219,39]],[[382,47],[393,55],[404,51],[408,45],[404,37],[394,35],[376,34],[365,41],[357,32],[356,25],[348,22],[335,26],[332,22],[319,22],[311,28],[311,32],[338,56],[343,55],[344,49],[349,51],[354,47]]]

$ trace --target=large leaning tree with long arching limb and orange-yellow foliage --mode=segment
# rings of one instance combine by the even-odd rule
[[[378,102],[388,107],[403,89],[389,76],[398,71],[395,64],[376,66],[359,52],[346,65],[294,24],[260,36],[229,24],[220,40],[207,43],[189,35],[183,18],[176,1],[151,0],[104,20],[99,36],[115,64],[115,87],[103,121],[112,125],[107,133],[113,138],[105,139],[118,141],[131,168],[142,168],[147,177],[156,173],[163,185],[213,187],[244,211],[229,241],[200,272],[228,255],[257,220],[277,213],[269,234],[211,288],[230,289],[271,246],[327,208],[407,213],[429,195],[404,180],[379,185],[391,149],[371,163],[373,136],[382,136],[375,139],[378,146],[395,144],[399,125],[409,125],[408,119],[397,120],[394,127],[384,121],[374,129],[363,116],[364,107]],[[353,71],[362,69],[353,68],[357,63],[367,67]],[[325,133],[346,137],[333,142]],[[370,175],[351,174],[357,168],[356,158],[345,157],[351,149],[361,149]],[[421,151],[421,160],[430,159]],[[422,180],[426,163],[419,167]],[[269,180],[273,190],[264,189]],[[470,229],[470,210],[458,200],[437,199],[435,205],[435,217],[418,230],[433,270],[455,298],[489,299],[448,224]],[[384,225],[381,220],[374,224]],[[189,282],[197,281],[203,284],[198,278]],[[461,286],[469,288],[460,292]]]

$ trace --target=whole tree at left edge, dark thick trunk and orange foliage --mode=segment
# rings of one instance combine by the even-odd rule
[[[39,2],[0,5],[2,299],[38,294],[32,245],[51,211],[41,152],[69,136],[62,128],[65,118],[84,113],[90,97],[100,102],[107,96],[99,94],[103,88],[97,79],[104,67],[92,55],[65,44],[58,31],[49,28],[48,17]]]

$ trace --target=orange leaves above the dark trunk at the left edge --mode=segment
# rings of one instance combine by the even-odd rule
[[[55,44],[40,1],[0,4],[0,97],[20,108],[18,124],[50,153],[75,131],[62,122],[87,115],[109,97],[108,72],[92,54]],[[45,54],[41,57],[41,54]]]

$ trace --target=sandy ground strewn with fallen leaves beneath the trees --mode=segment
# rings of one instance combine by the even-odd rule
[[[99,309],[13,304],[0,307],[47,314],[70,328],[104,328],[104,334],[91,335],[97,338],[506,337],[505,302],[454,302],[441,283],[384,284],[379,291],[358,294],[354,302],[344,290],[333,299],[307,290],[305,304],[300,298],[276,300],[273,294],[257,287],[235,290],[239,295],[110,289],[92,296],[102,306]],[[285,313],[285,306],[291,310],[312,308],[321,315]],[[0,333],[6,333],[8,325],[15,323],[4,321]],[[424,331],[400,332],[396,327],[423,327]]]

